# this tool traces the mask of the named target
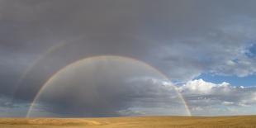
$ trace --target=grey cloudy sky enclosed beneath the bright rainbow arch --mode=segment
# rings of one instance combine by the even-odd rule
[[[132,68],[131,68],[132,67]],[[189,115],[183,98],[164,76],[144,64],[105,57],[83,60],[61,70],[36,97],[48,116]],[[41,104],[46,104],[42,106]],[[47,106],[49,104],[49,106]],[[174,109],[175,108],[175,109]],[[150,111],[146,111],[149,109]],[[168,111],[166,111],[168,110]],[[33,111],[30,116],[45,116]]]

